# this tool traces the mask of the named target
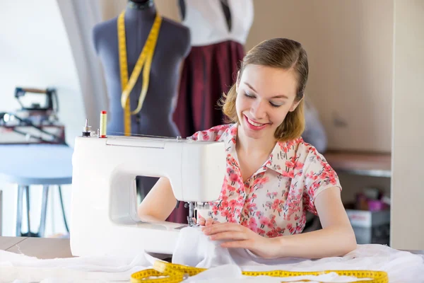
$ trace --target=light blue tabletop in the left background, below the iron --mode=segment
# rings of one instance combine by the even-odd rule
[[[62,144],[0,144],[0,178],[19,185],[71,184],[72,154]]]

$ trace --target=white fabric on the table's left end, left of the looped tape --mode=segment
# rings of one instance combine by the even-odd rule
[[[0,283],[128,282],[131,274],[152,267],[155,260],[146,253],[136,258],[105,256],[41,260],[0,250]]]

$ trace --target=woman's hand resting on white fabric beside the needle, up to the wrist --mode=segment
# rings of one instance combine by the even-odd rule
[[[202,228],[213,241],[224,241],[223,248],[246,248],[261,258],[275,258],[280,250],[280,239],[265,238],[249,228],[235,223],[218,223]]]

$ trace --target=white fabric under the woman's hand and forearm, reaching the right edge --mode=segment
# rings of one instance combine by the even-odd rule
[[[187,227],[181,232],[172,262],[195,267],[212,267],[211,272],[217,265],[221,265],[219,268],[224,268],[223,265],[232,265],[239,267],[240,270],[249,271],[381,270],[388,272],[390,282],[424,282],[424,256],[395,250],[388,246],[358,245],[356,250],[343,257],[319,260],[265,259],[245,249],[222,248],[218,241],[209,241],[200,227]],[[238,274],[240,275],[240,272]],[[315,279],[318,280],[317,277]],[[331,280],[333,281],[328,282],[351,282],[340,276]]]

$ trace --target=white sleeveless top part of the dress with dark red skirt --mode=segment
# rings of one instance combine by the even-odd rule
[[[231,31],[228,31],[220,0],[184,1],[185,16],[182,24],[190,30],[192,46],[211,45],[225,40],[245,45],[254,18],[252,0],[228,0]]]

